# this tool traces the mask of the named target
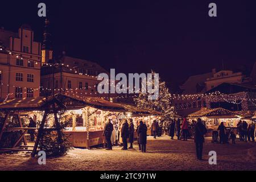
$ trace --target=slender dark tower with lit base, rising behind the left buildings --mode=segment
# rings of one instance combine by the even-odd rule
[[[42,44],[42,63],[48,63],[52,60],[52,42],[50,33],[50,21],[48,18],[44,21],[44,34],[43,34],[43,44]]]

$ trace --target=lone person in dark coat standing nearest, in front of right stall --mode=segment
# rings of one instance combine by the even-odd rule
[[[195,143],[196,143],[196,156],[197,159],[202,160],[203,156],[203,143],[204,135],[207,133],[207,128],[202,123],[201,119],[197,119],[195,124]]]

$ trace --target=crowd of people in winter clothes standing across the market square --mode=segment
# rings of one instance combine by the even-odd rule
[[[146,152],[148,127],[150,127],[151,134],[155,139],[161,137],[162,134],[167,134],[172,140],[174,140],[175,135],[177,140],[187,141],[188,138],[193,139],[195,141],[197,159],[202,160],[204,136],[207,134],[207,127],[205,126],[205,122],[200,118],[192,122],[188,122],[186,118],[170,119],[170,121],[157,119],[152,122],[151,126],[147,126],[143,121],[138,121],[136,129],[133,119],[123,119],[122,121],[115,122],[114,125],[109,119],[104,129],[106,150],[112,150],[113,142],[111,138],[113,131],[116,136],[115,143],[118,143],[119,139],[122,138],[122,150],[133,149],[135,139],[134,131],[136,131],[138,134],[137,142],[139,144],[139,151]],[[247,142],[248,140],[254,142],[255,123],[253,122],[248,125],[246,121],[240,121],[237,125],[237,132],[235,133],[234,129],[226,129],[224,123],[221,122],[217,131],[213,131],[212,135],[213,140],[221,144],[228,143],[229,139],[232,139],[232,143],[235,144],[237,135],[239,135],[241,141]],[[127,146],[128,142],[130,143],[129,148]]]

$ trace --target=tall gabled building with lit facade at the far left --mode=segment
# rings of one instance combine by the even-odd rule
[[[1,28],[0,46],[0,98],[38,97],[41,44],[34,31],[27,24],[18,33]]]

